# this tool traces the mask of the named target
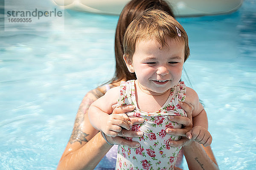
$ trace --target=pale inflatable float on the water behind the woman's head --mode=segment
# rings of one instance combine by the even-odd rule
[[[119,15],[130,0],[52,0],[67,9]],[[243,0],[166,0],[172,5],[175,16],[191,17],[227,14],[236,11]]]

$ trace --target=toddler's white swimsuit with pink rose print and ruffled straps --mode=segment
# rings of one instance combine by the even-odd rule
[[[166,128],[180,128],[182,125],[171,122],[169,115],[186,116],[179,101],[186,97],[186,85],[179,82],[171,88],[171,93],[160,110],[154,113],[141,111],[137,107],[135,97],[135,80],[121,82],[118,103],[120,105],[135,105],[129,117],[142,117],[144,122],[133,125],[131,130],[142,131],[140,138],[126,138],[140,143],[138,148],[124,145],[118,146],[116,170],[174,170],[177,154],[181,147],[172,147],[169,142],[179,140],[180,136],[166,133]]]

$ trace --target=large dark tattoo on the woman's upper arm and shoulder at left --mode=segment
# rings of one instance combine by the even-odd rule
[[[98,89],[94,89],[92,91],[89,91],[88,93],[93,94],[93,96],[95,96],[96,99],[104,95]],[[88,108],[94,101],[95,99],[91,99],[88,95],[84,97],[84,101],[80,105],[79,110],[76,114],[75,125],[69,139],[70,144],[74,142],[79,142],[80,144],[82,144],[82,142],[88,142],[86,136],[88,136],[89,134],[84,133],[81,127],[84,121],[84,114],[88,111]]]

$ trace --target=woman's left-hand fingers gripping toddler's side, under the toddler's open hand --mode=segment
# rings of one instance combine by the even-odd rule
[[[113,115],[116,115],[117,113],[126,113],[129,111],[133,111],[134,110],[134,105],[122,105],[120,107],[113,107]],[[131,120],[132,125],[138,125],[144,122],[143,118],[140,117],[129,117]],[[107,140],[109,143],[111,144],[121,144],[121,145],[125,145],[128,147],[132,147],[132,148],[136,148],[136,147],[140,147],[140,144],[138,142],[131,142],[127,139],[124,139],[122,137],[141,137],[143,136],[143,132],[139,132],[139,131],[132,131],[132,130],[126,130],[124,128],[122,128],[121,131],[119,131],[115,137],[112,136],[106,136]]]

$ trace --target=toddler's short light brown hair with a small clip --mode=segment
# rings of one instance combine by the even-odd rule
[[[165,41],[166,37],[175,38],[184,43],[185,62],[189,57],[189,44],[184,28],[177,20],[164,11],[145,11],[140,17],[135,18],[125,31],[123,40],[124,55],[126,59],[132,61],[135,46],[136,43],[139,43],[139,40],[155,39],[163,48],[167,44]]]

